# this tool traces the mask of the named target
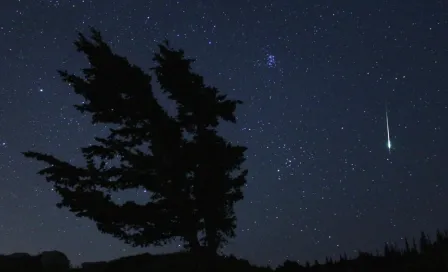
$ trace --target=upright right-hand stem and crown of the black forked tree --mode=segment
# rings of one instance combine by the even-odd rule
[[[197,216],[203,219],[203,242],[215,252],[226,237],[235,235],[233,205],[243,197],[247,175],[240,168],[246,148],[231,145],[217,134],[216,127],[219,118],[236,121],[234,111],[241,101],[227,100],[216,88],[206,87],[203,78],[190,71],[193,60],[185,59],[183,51],[159,48],[155,60],[160,65],[154,68],[157,80],[168,97],[178,102],[182,128],[194,135],[186,149],[194,176],[192,194]]]

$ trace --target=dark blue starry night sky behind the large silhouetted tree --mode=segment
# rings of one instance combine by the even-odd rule
[[[36,174],[45,165],[20,153],[82,162],[77,148],[105,130],[72,107],[82,98],[56,72],[87,67],[73,41],[89,25],[147,71],[166,37],[207,84],[245,102],[221,130],[249,148],[250,171],[226,253],[276,266],[445,229],[443,2],[2,0],[0,252],[57,249],[77,264],[148,250],[57,209]]]

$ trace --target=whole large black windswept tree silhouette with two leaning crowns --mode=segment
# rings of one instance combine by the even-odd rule
[[[181,238],[192,251],[216,254],[235,235],[234,204],[243,198],[247,175],[241,169],[246,148],[232,145],[216,128],[221,120],[236,122],[241,101],[206,86],[191,71],[194,60],[166,41],[153,70],[177,104],[177,113],[169,115],[153,94],[151,75],[91,31],[91,40],[79,33],[75,42],[90,63],[84,78],[59,74],[85,99],[76,109],[92,114],[93,124],[109,126],[109,135],[81,149],[85,166],[34,151],[24,155],[48,164],[38,173],[62,197],[58,207],[94,220],[100,231],[133,246]],[[145,190],[148,202],[114,200],[112,192],[127,189]]]

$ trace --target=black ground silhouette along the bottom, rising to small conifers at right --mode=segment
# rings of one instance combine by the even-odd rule
[[[0,255],[0,271],[5,272],[195,272],[197,266],[191,258],[191,252],[183,251],[171,254],[140,254],[122,257],[109,262],[89,262],[81,267],[69,268],[67,263],[44,266],[41,254],[31,256],[27,253]],[[299,264],[287,260],[277,268],[260,267],[247,260],[234,256],[217,256],[216,272],[440,272],[448,271],[448,232],[437,231],[435,239],[421,233],[419,239],[405,240],[402,247],[385,244],[382,252],[375,254],[359,252],[358,256],[348,258],[342,254],[337,260],[327,258],[326,262]],[[205,270],[202,270],[205,271]],[[210,270],[208,270],[210,271]]]

